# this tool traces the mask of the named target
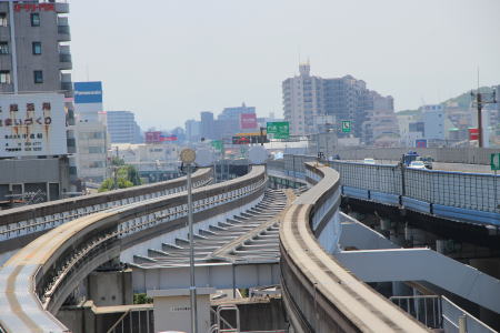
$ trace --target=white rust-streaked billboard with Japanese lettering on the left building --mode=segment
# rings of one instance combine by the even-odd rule
[[[27,93],[0,99],[0,158],[68,152],[64,95]]]

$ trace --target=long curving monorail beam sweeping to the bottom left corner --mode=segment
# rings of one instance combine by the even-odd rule
[[[264,167],[196,189],[194,223],[262,198]],[[120,252],[186,229],[187,193],[154,198],[59,225],[16,253],[0,270],[0,326],[8,332],[67,332],[53,317],[84,276]]]

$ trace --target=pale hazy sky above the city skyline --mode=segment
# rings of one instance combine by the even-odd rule
[[[500,83],[499,0],[73,0],[73,81],[102,81],[107,110],[143,130],[202,110],[282,115],[281,82],[310,59],[396,109]]]

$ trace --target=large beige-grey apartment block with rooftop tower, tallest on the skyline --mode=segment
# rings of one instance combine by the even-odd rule
[[[361,138],[367,110],[373,108],[370,91],[351,75],[323,79],[310,74],[310,64],[299,65],[299,75],[282,83],[284,119],[292,135],[308,135],[333,128],[334,122],[352,122],[354,137]],[[338,128],[338,124],[334,127]],[[346,134],[339,133],[339,137]]]

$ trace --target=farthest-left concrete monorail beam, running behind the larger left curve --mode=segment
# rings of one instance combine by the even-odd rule
[[[194,188],[206,185],[212,181],[212,170],[200,169],[193,173],[192,180]],[[186,191],[186,176],[0,211],[0,254],[20,249],[47,230],[74,219],[182,191]]]

